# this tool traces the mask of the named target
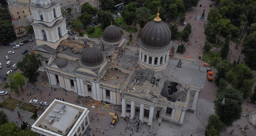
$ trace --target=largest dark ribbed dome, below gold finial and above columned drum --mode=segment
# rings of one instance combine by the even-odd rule
[[[171,30],[163,21],[152,20],[141,31],[143,47],[153,50],[168,48],[171,41]]]

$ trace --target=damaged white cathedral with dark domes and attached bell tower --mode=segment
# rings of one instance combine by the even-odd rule
[[[194,113],[207,70],[186,59],[175,59],[177,44],[159,13],[148,22],[138,42],[127,45],[118,27],[105,28],[102,38],[68,38],[58,0],[32,0],[35,46],[40,71],[49,84],[79,96],[122,105],[122,117],[137,117],[149,126],[169,122],[183,125]]]

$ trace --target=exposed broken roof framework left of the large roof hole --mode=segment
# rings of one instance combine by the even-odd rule
[[[131,76],[129,82],[130,85],[143,85],[145,81],[149,81],[152,85],[157,85],[159,79],[154,77],[154,71],[149,69],[135,70],[134,74]]]

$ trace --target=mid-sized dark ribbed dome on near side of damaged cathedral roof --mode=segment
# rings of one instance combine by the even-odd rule
[[[103,60],[102,52],[94,46],[85,48],[81,55],[81,63],[87,67],[98,66]]]

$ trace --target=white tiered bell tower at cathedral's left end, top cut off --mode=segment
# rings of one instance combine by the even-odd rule
[[[68,37],[59,0],[31,0],[29,7],[34,17],[32,26],[37,45],[46,44],[56,49],[61,40]]]

